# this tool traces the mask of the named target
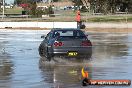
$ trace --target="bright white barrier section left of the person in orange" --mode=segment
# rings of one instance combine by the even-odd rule
[[[0,22],[0,28],[77,28],[77,22]]]

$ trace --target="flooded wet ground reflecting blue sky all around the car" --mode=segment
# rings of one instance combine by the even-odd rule
[[[0,30],[0,88],[82,88],[82,67],[91,79],[132,80],[132,34],[88,33],[93,44],[91,58],[83,61],[56,58],[57,62],[47,62],[39,56],[38,46],[43,40],[41,35],[48,32]]]

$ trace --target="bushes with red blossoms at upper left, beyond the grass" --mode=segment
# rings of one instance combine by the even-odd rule
[[[32,17],[52,16],[54,14],[52,6],[45,9],[37,8],[37,2],[38,0],[15,0],[14,4],[24,8],[24,14],[31,15]]]

